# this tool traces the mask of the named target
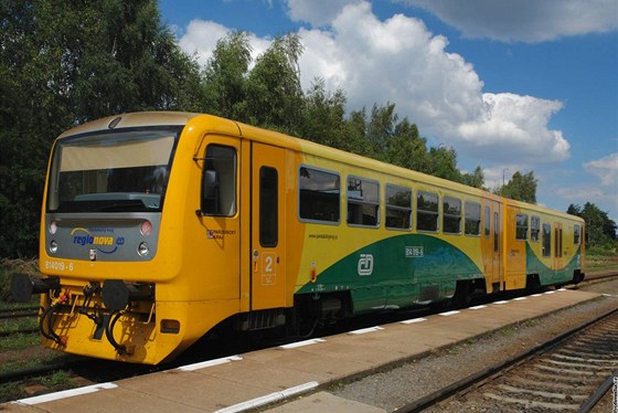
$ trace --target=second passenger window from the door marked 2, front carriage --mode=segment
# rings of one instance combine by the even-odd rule
[[[348,177],[348,223],[362,226],[380,224],[380,186],[376,181]]]

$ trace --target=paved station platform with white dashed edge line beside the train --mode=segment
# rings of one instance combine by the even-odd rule
[[[0,404],[2,412],[381,412],[319,390],[599,295],[551,290]],[[295,395],[313,392],[308,398]]]

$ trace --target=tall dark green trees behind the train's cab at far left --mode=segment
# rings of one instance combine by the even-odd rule
[[[36,253],[62,130],[122,112],[195,109],[200,82],[154,0],[0,2],[0,256]]]

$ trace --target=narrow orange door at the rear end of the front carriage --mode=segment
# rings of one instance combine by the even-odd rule
[[[502,266],[502,204],[487,201],[483,211],[482,251],[484,275],[488,279],[488,292],[500,290],[503,282]]]

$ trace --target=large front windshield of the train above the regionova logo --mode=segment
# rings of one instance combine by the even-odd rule
[[[49,212],[161,211],[180,127],[58,139]]]

